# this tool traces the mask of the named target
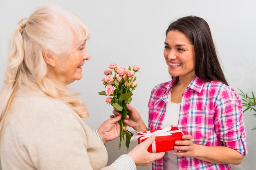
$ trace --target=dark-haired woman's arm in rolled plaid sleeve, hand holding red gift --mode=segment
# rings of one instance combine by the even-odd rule
[[[195,157],[211,163],[240,164],[247,154],[242,113],[241,101],[237,94],[232,89],[224,89],[216,102],[213,122],[216,135],[223,146],[196,145],[192,143],[191,135],[184,135],[185,141],[178,141],[175,147],[177,150],[184,150],[184,153],[175,155]]]

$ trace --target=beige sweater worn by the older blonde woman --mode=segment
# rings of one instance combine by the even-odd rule
[[[0,159],[2,170],[117,170],[105,167],[104,144],[68,105],[28,91],[8,110]]]

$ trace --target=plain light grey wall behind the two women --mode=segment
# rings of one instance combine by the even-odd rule
[[[101,78],[112,62],[123,67],[141,67],[131,105],[147,124],[151,89],[171,79],[163,57],[165,30],[170,22],[187,15],[208,22],[229,85],[237,92],[239,88],[256,93],[254,0],[0,0],[0,86],[11,31],[36,7],[49,2],[75,13],[91,30],[87,43],[91,60],[83,66],[83,78],[70,87],[81,94],[88,106],[90,117],[86,123],[92,129],[112,113],[112,107],[105,103],[106,97],[97,94],[104,90]],[[243,115],[249,153],[241,166],[248,170],[256,167],[256,130],[251,130],[256,118],[252,114],[247,111]]]

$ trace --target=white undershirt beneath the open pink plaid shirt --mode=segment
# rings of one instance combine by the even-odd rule
[[[169,99],[166,105],[166,112],[162,122],[162,128],[166,126],[177,126],[180,115],[180,103],[171,102],[171,90],[169,92]],[[163,157],[163,170],[177,170],[177,156],[173,155],[176,150],[165,152]]]

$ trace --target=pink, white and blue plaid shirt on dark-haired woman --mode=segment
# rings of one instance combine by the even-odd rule
[[[148,128],[161,129],[168,92],[178,77],[153,88],[148,102]],[[247,154],[242,106],[234,89],[218,81],[204,82],[197,76],[185,89],[180,101],[178,128],[192,135],[194,144],[227,146]],[[177,157],[178,170],[230,170],[229,164],[209,163],[193,157]],[[159,159],[153,170],[162,170]]]

